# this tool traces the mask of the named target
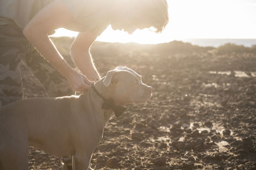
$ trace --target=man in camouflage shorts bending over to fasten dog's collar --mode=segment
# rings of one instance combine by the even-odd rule
[[[21,61],[49,97],[85,92],[100,78],[90,46],[109,24],[131,34],[148,27],[161,32],[167,23],[166,0],[1,0],[0,105],[22,99]],[[79,71],[49,38],[60,27],[79,32],[70,48]]]

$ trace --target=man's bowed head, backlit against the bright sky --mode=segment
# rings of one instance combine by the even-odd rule
[[[166,0],[115,0],[111,27],[127,31],[154,27],[163,31],[168,24],[168,4]]]

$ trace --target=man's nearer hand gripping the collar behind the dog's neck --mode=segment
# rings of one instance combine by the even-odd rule
[[[86,76],[77,71],[72,71],[67,80],[74,91],[81,93],[86,92],[93,84],[93,81],[88,80]]]

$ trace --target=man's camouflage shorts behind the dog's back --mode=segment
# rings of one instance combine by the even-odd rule
[[[21,61],[42,83],[49,97],[74,94],[68,81],[38,53],[22,29],[0,17],[0,106],[22,99]]]

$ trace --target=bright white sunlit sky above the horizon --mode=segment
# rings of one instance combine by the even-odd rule
[[[222,38],[256,39],[256,0],[167,0],[169,23],[161,33],[148,29],[131,35],[113,31],[111,26],[97,41],[167,43],[174,39]],[[54,36],[76,36],[58,29]]]

